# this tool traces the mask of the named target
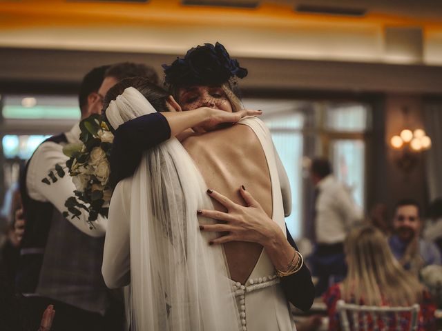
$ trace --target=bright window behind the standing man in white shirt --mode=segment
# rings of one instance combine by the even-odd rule
[[[311,217],[306,157],[329,157],[335,176],[365,207],[365,132],[371,108],[361,102],[244,99],[249,109],[261,109],[291,186],[292,212],[286,223],[292,237],[302,237]]]

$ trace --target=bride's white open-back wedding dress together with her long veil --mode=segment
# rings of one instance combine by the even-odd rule
[[[128,88],[115,102],[118,114],[106,111],[108,118],[116,118],[115,124],[109,119],[114,128],[151,109],[140,96]],[[255,117],[240,124],[256,133],[265,152],[272,219],[285,233],[270,132]],[[205,191],[198,168],[176,139],[146,152],[134,176],[115,188],[102,272],[111,288],[131,284],[131,330],[296,330],[265,250],[244,285],[229,279],[222,246],[207,245],[214,234],[198,228],[213,223],[196,217],[198,209],[213,209]]]

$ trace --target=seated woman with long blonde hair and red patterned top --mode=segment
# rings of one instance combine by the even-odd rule
[[[418,330],[436,330],[434,311],[436,307],[430,295],[419,281],[403,270],[393,257],[383,233],[371,225],[357,228],[349,233],[345,244],[348,274],[343,283],[333,285],[323,299],[329,314],[329,330],[340,329],[336,303],[342,299],[347,303],[376,306],[421,305]],[[404,316],[410,323],[410,314]],[[382,321],[371,321],[369,330],[381,328]],[[396,321],[391,328],[398,330]],[[408,330],[402,325],[401,330]],[[382,328],[381,328],[382,329]],[[383,330],[383,329],[382,329]]]

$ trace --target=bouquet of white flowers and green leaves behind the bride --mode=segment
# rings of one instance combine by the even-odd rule
[[[79,218],[81,209],[86,210],[92,228],[92,221],[97,220],[98,214],[108,216],[108,205],[112,195],[109,185],[111,173],[109,157],[113,134],[98,114],[81,121],[80,130],[81,143],[70,143],[63,148],[64,154],[69,157],[66,167],[77,189],[74,191],[75,197],[66,200],[64,205],[68,210],[63,212],[63,216],[67,218],[71,215],[71,218]],[[55,172],[59,177],[64,176],[64,170],[60,165],[56,165]],[[48,185],[50,181],[55,183],[57,178],[54,171],[42,181]]]

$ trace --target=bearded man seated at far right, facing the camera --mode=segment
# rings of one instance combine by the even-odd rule
[[[421,208],[416,201],[403,199],[396,203],[393,229],[388,243],[405,270],[419,274],[425,265],[441,264],[441,253],[436,245],[421,238]]]

